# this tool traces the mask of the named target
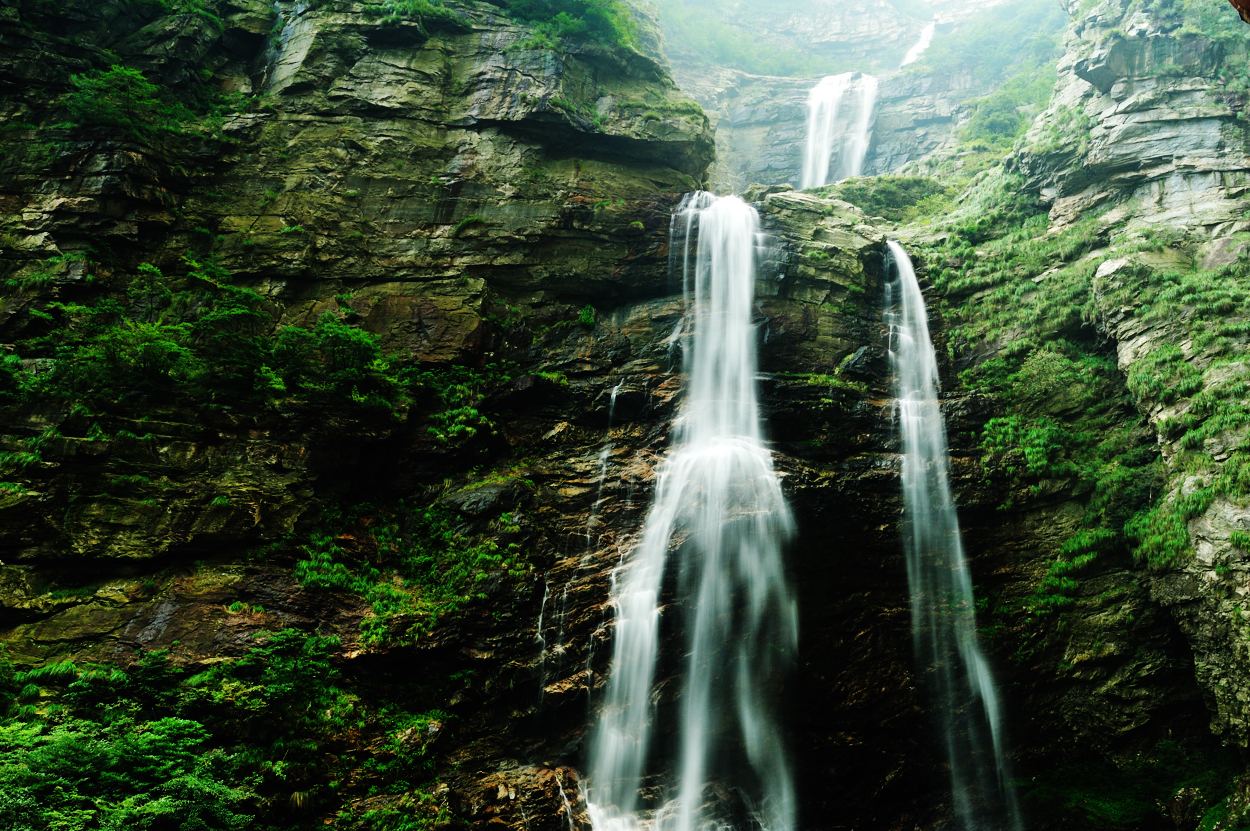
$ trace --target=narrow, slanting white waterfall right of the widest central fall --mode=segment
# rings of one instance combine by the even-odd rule
[[[964,831],[1018,831],[1001,710],[976,637],[972,580],[950,490],[938,356],[908,252],[890,242],[885,309],[902,442],[904,549],[916,660],[941,729],[951,800]]]

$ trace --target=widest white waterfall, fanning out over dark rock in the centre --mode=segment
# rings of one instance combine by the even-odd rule
[[[672,229],[686,289],[686,392],[641,540],[612,580],[616,630],[590,739],[590,816],[596,831],[705,831],[735,820],[790,831],[794,784],[766,687],[798,645],[781,562],[794,529],[755,391],[759,216],[736,196],[691,194]],[[686,657],[675,722],[658,725],[666,585],[675,589],[666,620],[680,617]],[[676,740],[671,767],[654,757],[656,735]],[[644,786],[659,791],[645,806]]]

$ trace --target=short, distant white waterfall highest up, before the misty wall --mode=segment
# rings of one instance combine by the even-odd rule
[[[872,140],[876,86],[872,75],[842,72],[811,87],[802,187],[820,187],[864,172]]]

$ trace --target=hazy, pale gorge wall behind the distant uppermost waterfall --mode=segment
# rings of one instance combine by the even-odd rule
[[[1031,119],[1049,96],[1066,22],[1059,6],[1031,0],[854,6],[805,0],[782,14],[772,6],[712,10],[690,2],[665,6],[660,19],[679,86],[716,127],[711,177],[722,190],[799,185],[808,92],[828,75],[880,77],[866,175],[970,144],[961,141],[966,122],[978,109],[995,109],[994,94],[1004,86],[1034,86],[1028,100],[1014,102],[1032,107]],[[930,47],[900,66],[930,21],[936,26]]]

